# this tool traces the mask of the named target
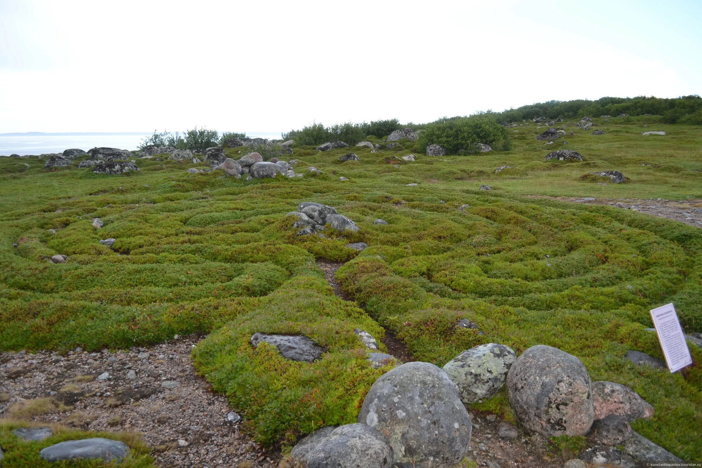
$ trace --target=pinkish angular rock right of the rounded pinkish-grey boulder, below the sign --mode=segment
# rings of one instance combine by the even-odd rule
[[[632,422],[654,415],[654,407],[639,394],[615,382],[592,382],[592,406],[595,420],[618,415]]]

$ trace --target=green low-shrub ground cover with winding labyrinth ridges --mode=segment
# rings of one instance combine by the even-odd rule
[[[694,366],[674,375],[624,359],[630,349],[662,357],[645,330],[658,305],[675,302],[684,328],[702,331],[701,229],[522,196],[700,196],[702,132],[657,124],[668,135],[646,137],[643,124],[606,123],[604,135],[570,126],[568,147],[583,154],[574,163],[545,162],[534,140],[545,128],[527,123],[509,152],[425,156],[407,140],[376,153],[296,147],[303,178],[253,182],[187,174],[201,164],[178,161],[135,159],[138,173],[108,176],[1,159],[0,347],[93,350],[211,333],[194,349],[197,368],[272,444],[355,421],[388,370],[367,365],[355,328],[376,339],[388,328],[439,366],[481,343],[517,353],[544,344],[578,356],[592,380],[632,387],[656,410],[635,430],[702,460],[702,351],[693,347]],[[350,150],[359,161],[338,161]],[[399,159],[407,154],[415,161]],[[503,165],[510,172],[494,172]],[[630,182],[580,178],[606,169]],[[360,229],[298,236],[286,213],[301,201],[334,206]],[[107,238],[112,248],[98,242]],[[345,248],[359,241],[369,248]],[[48,261],[57,254],[67,261]],[[333,294],[315,258],[348,261],[337,278],[356,303]],[[457,330],[461,318],[484,334]],[[327,352],[311,364],[286,361],[251,347],[257,331],[307,335]],[[504,394],[476,407],[512,417]]]

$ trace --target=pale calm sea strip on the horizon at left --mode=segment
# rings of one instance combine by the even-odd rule
[[[94,147],[137,149],[141,141],[152,133],[121,135],[0,135],[0,156],[19,154],[60,153],[64,149],[79,148],[84,151]],[[250,132],[251,138],[280,138],[280,133]]]

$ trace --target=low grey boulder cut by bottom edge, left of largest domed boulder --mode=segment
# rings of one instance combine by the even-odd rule
[[[366,424],[337,427],[296,458],[306,468],[391,468],[392,460],[388,438]]]

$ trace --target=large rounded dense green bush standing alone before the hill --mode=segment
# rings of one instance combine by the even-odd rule
[[[475,152],[475,144],[484,143],[493,149],[510,149],[512,141],[506,127],[490,116],[451,117],[428,125],[419,134],[418,147],[442,145],[449,154]]]

